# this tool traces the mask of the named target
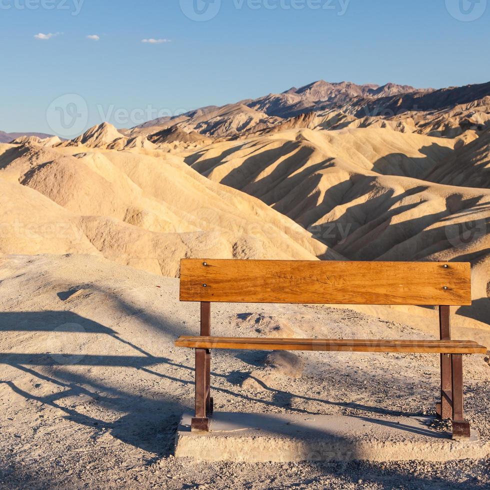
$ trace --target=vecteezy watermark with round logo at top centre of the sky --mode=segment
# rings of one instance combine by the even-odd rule
[[[485,0],[486,1],[486,0]],[[329,10],[344,15],[350,0],[232,0],[236,10]],[[180,0],[180,9],[191,20],[214,18],[221,8],[221,0]]]

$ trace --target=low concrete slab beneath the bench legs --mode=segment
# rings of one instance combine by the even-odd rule
[[[431,417],[214,412],[210,431],[180,421],[175,456],[219,461],[400,461],[483,458],[490,441],[453,440]]]

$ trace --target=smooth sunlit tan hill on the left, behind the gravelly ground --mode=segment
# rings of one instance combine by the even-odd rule
[[[339,257],[258,199],[168,153],[4,144],[0,186],[4,253],[93,252],[168,276],[186,256]]]

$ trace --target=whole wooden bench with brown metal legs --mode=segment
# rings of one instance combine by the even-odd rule
[[[462,354],[484,353],[451,340],[449,305],[471,304],[469,263],[182,259],[180,300],[200,301],[200,335],[175,345],[195,349],[192,430],[209,430],[210,351],[220,349],[432,352],[440,354],[440,403],[453,438],[469,437],[463,417]],[[438,305],[440,340],[214,337],[211,302]]]

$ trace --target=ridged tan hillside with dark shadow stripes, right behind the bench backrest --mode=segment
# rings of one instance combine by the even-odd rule
[[[348,259],[471,261],[473,307],[458,310],[458,321],[483,327],[490,190],[460,184],[486,178],[488,143],[483,134],[454,152],[455,142],[387,128],[288,129],[216,142],[186,161],[262,199]],[[451,175],[458,185],[448,185]]]

